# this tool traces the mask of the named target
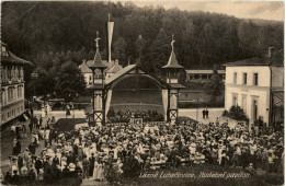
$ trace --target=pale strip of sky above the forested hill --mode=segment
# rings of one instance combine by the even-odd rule
[[[187,11],[215,12],[240,19],[262,19],[284,21],[282,1],[133,1],[137,7],[162,5],[164,9],[178,8]]]

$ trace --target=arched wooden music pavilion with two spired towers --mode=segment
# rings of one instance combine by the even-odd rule
[[[169,61],[162,67],[166,81],[149,74],[137,65],[128,65],[112,77],[105,79],[99,46],[93,63],[89,66],[93,74],[93,84],[88,89],[93,92],[93,104],[86,108],[87,118],[91,123],[105,124],[106,115],[114,111],[147,112],[156,111],[164,116],[164,121],[175,123],[178,117],[179,91],[184,86],[178,83],[179,71],[172,40]]]

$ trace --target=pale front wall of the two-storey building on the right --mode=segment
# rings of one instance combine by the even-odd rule
[[[236,83],[235,73],[237,73]],[[243,84],[243,73],[247,73],[247,84]],[[258,85],[254,85],[254,73],[258,73]],[[270,74],[267,66],[226,67],[226,109],[236,104],[243,108],[250,123],[253,123],[253,102],[256,101],[256,118],[261,117],[269,124]]]

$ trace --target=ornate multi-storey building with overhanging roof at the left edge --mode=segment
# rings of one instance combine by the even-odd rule
[[[1,43],[1,125],[16,118],[25,111],[24,66],[31,62],[8,50]]]

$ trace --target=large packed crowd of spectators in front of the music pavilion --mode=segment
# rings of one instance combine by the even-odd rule
[[[41,139],[41,131],[36,133]],[[32,135],[32,139],[36,144],[37,138]],[[7,183],[48,183],[75,175],[110,181],[141,170],[196,165],[283,172],[283,130],[250,131],[242,124],[229,128],[226,123],[181,121],[142,127],[125,123],[71,131],[56,131],[46,125],[42,139],[45,149],[39,155],[35,154],[36,148],[30,147],[13,153]]]

